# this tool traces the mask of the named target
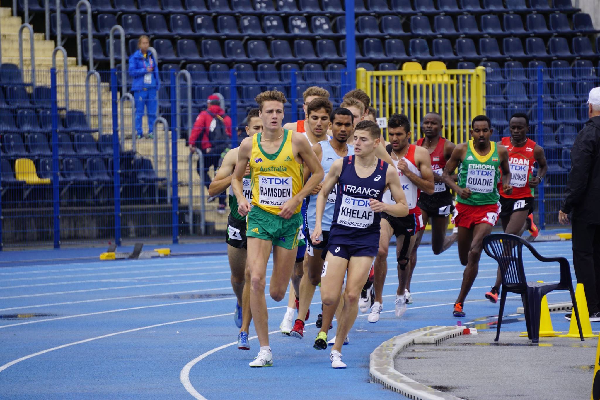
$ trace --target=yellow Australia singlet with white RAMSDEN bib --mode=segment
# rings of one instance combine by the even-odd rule
[[[284,130],[277,152],[268,154],[260,146],[262,133],[252,137],[250,175],[252,204],[277,215],[280,206],[304,187],[304,164],[298,164],[292,151],[292,131]],[[294,213],[300,212],[302,203]]]

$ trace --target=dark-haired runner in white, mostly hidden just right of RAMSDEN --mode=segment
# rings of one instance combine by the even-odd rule
[[[317,88],[320,89],[320,88]],[[314,97],[308,106],[306,107],[307,112],[307,124],[304,125],[306,131],[303,133],[304,136],[308,139],[308,142],[312,145],[316,145],[321,140],[331,139],[330,136],[326,134],[327,128],[329,127],[329,114],[331,113],[331,109],[333,106],[331,105],[331,101],[326,100],[322,97]],[[305,180],[308,179],[307,171],[305,171]],[[307,203],[306,200],[302,200],[302,218],[304,218],[304,222],[306,221],[306,210]],[[306,236],[305,233],[306,224],[302,225],[302,235]],[[302,293],[300,285],[302,281],[302,276],[304,276],[304,270],[307,269],[305,265],[305,253],[307,246],[304,244],[303,246],[298,246],[298,254],[296,255],[296,263],[294,264],[294,272],[292,274],[292,288],[290,288],[290,296],[287,302],[287,310],[286,314],[283,316],[283,320],[280,324],[280,331],[283,335],[290,335],[292,332],[292,326],[294,325],[294,311],[298,310],[298,315],[306,315],[304,320],[308,320],[310,316],[310,300],[308,301],[308,306],[302,309],[302,313],[300,312],[299,307],[299,294]],[[313,298],[311,294],[311,299]],[[293,302],[293,303],[292,303]],[[306,310],[306,314],[304,314],[304,310]],[[304,324],[304,323],[303,323]]]

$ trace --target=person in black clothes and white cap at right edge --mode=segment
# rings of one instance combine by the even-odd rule
[[[586,122],[571,149],[571,172],[559,222],[573,225],[573,264],[586,292],[590,321],[600,321],[600,88],[590,91]],[[565,318],[570,320],[571,314]]]

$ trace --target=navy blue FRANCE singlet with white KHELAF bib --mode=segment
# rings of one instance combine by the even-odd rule
[[[371,176],[360,178],[354,166],[356,157],[344,157],[338,179],[334,217],[329,231],[329,244],[379,245],[379,212],[371,210],[369,199],[381,201],[385,189],[388,164],[377,159]]]

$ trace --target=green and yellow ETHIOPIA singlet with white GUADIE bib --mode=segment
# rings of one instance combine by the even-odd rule
[[[458,186],[469,188],[471,196],[468,199],[457,196],[456,201],[472,206],[496,204],[500,200],[497,187],[500,181],[499,167],[496,143],[490,142],[490,152],[482,156],[475,151],[473,140],[469,140],[467,154],[458,167]]]

